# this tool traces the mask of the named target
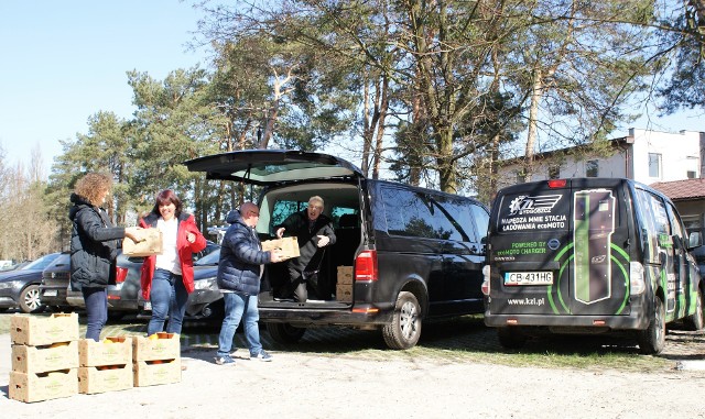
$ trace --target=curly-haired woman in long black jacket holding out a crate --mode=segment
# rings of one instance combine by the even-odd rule
[[[88,173],[76,183],[68,210],[73,222],[70,233],[70,287],[82,291],[86,302],[86,339],[100,340],[108,320],[106,288],[115,283],[115,261],[120,239],[141,241],[138,228],[115,227],[100,208],[112,187],[112,178],[101,173]]]

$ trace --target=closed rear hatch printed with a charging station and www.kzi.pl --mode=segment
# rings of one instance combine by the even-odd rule
[[[629,220],[620,179],[502,189],[490,221],[489,311],[629,313]]]

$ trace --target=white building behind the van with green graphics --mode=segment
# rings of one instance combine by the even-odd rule
[[[523,175],[523,159],[505,161],[498,186],[571,177],[626,177],[651,185],[699,178],[705,173],[703,132],[673,134],[632,128],[628,136],[614,139],[610,145],[611,155],[590,154],[581,146],[536,154],[530,176]]]

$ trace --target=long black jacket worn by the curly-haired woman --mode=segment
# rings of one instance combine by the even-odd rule
[[[100,288],[115,282],[115,260],[124,238],[124,228],[113,227],[102,208],[94,207],[84,198],[72,194],[74,206],[68,219],[74,223],[70,232],[70,287]]]

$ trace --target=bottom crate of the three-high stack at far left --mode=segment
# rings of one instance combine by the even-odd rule
[[[41,401],[78,394],[77,368],[51,373],[10,373],[9,397],[20,401]]]

